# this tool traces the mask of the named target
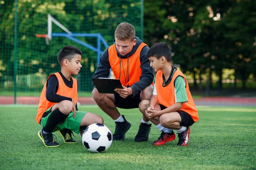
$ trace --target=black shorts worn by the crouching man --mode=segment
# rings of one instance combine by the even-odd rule
[[[131,97],[131,95],[129,95],[125,99],[122,98],[118,93],[114,93],[114,96],[116,101],[115,105],[117,108],[122,108],[122,109],[139,108],[139,104],[141,102],[140,92],[136,94],[134,97]]]

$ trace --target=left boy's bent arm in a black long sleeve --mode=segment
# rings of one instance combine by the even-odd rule
[[[58,79],[57,77],[55,77],[55,75],[52,75],[48,79],[47,89],[46,89],[46,99],[49,102],[58,103],[63,100],[72,101],[70,97],[65,97],[65,96],[56,94],[57,88],[58,88]]]

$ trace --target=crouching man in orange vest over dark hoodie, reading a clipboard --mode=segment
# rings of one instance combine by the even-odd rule
[[[148,45],[135,37],[135,28],[129,23],[120,23],[115,31],[113,45],[108,47],[99,59],[93,78],[108,77],[112,69],[115,79],[120,79],[122,89],[115,94],[101,94],[93,89],[93,99],[116,123],[113,140],[125,139],[131,127],[117,108],[139,108],[141,100],[149,100],[152,95],[154,74],[147,57]],[[116,108],[117,107],[117,108]],[[148,140],[151,123],[143,116],[135,136],[136,142]]]

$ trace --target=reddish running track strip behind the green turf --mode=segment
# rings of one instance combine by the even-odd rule
[[[23,105],[38,105],[40,97],[17,97],[16,104]],[[195,102],[227,102],[256,105],[256,98],[240,98],[240,97],[204,97],[202,99],[194,99]],[[96,102],[91,97],[79,97],[78,102],[81,105],[94,105]],[[0,105],[14,104],[13,96],[0,96]]]

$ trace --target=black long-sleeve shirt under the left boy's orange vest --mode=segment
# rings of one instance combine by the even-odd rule
[[[69,81],[66,79],[66,77],[64,77],[64,75],[61,73],[61,71],[58,73],[61,75],[65,85],[67,85],[67,87],[69,87],[69,88],[73,88],[73,79],[71,78]],[[53,103],[58,103],[63,100],[72,101],[72,99],[70,97],[61,96],[61,95],[56,94],[57,91],[58,91],[58,79],[54,74],[52,74],[47,81],[46,99],[49,102],[53,102]],[[76,110],[78,110],[77,104],[76,104]]]

